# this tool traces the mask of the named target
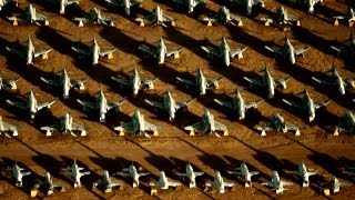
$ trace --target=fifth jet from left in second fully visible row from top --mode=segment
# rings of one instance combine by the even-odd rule
[[[296,57],[300,54],[304,57],[304,53],[311,49],[311,47],[305,48],[294,48],[294,46],[291,43],[290,39],[286,37],[285,42],[282,47],[275,47],[271,48],[265,46],[265,49],[268,51],[275,53],[276,56],[281,56],[284,59],[287,59],[292,64],[296,63]]]

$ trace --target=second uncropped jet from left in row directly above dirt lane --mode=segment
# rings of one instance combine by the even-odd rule
[[[144,136],[151,138],[146,131],[153,132],[153,136],[158,136],[158,127],[149,123],[144,120],[144,116],[141,114],[139,110],[135,110],[134,114],[132,116],[132,121],[124,123],[120,127],[113,128],[115,131],[120,131],[120,136],[124,136],[124,132],[129,131],[132,133],[138,133],[139,136]]]

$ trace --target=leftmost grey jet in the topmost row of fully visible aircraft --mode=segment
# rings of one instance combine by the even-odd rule
[[[12,21],[13,26],[18,26],[19,22],[22,23],[34,23],[37,26],[41,26],[39,21],[44,22],[44,26],[49,26],[48,18],[45,16],[39,14],[36,10],[36,8],[30,3],[26,10],[24,13],[20,16],[12,16],[12,17],[7,17],[8,20]]]

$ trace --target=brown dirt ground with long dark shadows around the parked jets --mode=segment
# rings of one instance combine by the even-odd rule
[[[65,187],[65,191],[54,193],[51,199],[154,199],[150,196],[148,184],[156,179],[160,170],[164,170],[169,178],[183,182],[178,190],[159,191],[159,199],[325,199],[320,184],[329,180],[333,176],[343,181],[354,183],[351,177],[344,176],[341,168],[354,166],[355,147],[354,136],[341,133],[332,134],[334,126],[345,113],[345,110],[354,110],[354,91],[347,90],[346,96],[335,94],[333,90],[321,88],[312,76],[327,71],[334,64],[345,78],[354,78],[353,60],[337,58],[331,50],[331,44],[341,44],[345,41],[351,29],[344,24],[333,26],[333,14],[345,13],[347,6],[345,0],[324,0],[324,6],[317,6],[315,14],[310,16],[305,9],[292,4],[288,0],[266,0],[265,8],[252,17],[243,16],[237,9],[231,11],[244,20],[243,27],[217,24],[206,27],[199,20],[202,16],[213,16],[216,10],[225,4],[226,0],[210,0],[206,8],[197,9],[197,12],[187,16],[176,9],[169,0],[144,0],[141,8],[133,11],[128,18],[122,10],[111,9],[102,0],[80,1],[80,8],[68,9],[67,14],[59,16],[45,1],[30,0],[37,11],[50,18],[49,27],[19,26],[6,20],[11,16],[9,10],[3,10],[0,19],[0,66],[1,76],[4,78],[21,77],[18,82],[17,93],[1,91],[0,113],[3,119],[21,128],[18,138],[1,138],[1,179],[0,199],[28,199],[33,181],[49,171],[55,181]],[[20,0],[19,12],[27,7],[28,2]],[[162,28],[139,27],[135,17],[146,14],[156,4],[178,19],[176,27]],[[282,31],[274,27],[264,27],[257,21],[258,18],[273,13],[281,4],[288,12],[302,18],[302,27]],[[81,17],[92,7],[102,10],[102,14],[115,18],[115,27],[85,26],[79,28],[72,20]],[[28,37],[34,40],[34,46],[53,48],[48,60],[36,59],[34,66],[26,66],[23,62],[6,51],[6,46],[13,46],[17,40],[24,42]],[[165,64],[158,66],[154,61],[141,59],[138,53],[140,44],[156,42],[160,37],[169,40],[171,48],[183,47],[180,59],[168,59]],[[217,44],[222,36],[229,38],[232,47],[246,46],[244,59],[234,59],[229,68],[219,62],[210,62],[201,46]],[[304,58],[297,58],[295,66],[275,60],[274,56],[264,49],[264,46],[277,43],[285,36],[291,38],[296,47],[311,46],[311,50]],[[77,58],[71,46],[87,43],[95,37],[103,49],[116,47],[112,60],[100,60],[95,67]],[[338,42],[336,42],[338,41]],[[280,43],[280,42],[278,42]],[[268,99],[264,92],[251,90],[243,77],[254,77],[266,64],[276,78],[290,76],[292,79],[285,90],[277,90],[274,99]],[[138,68],[143,78],[159,77],[155,89],[142,91],[136,98],[132,98],[128,91],[119,88],[111,80],[111,76],[130,74]],[[175,100],[187,101],[196,98],[195,91],[184,89],[176,83],[175,77],[189,78],[190,72],[202,68],[207,78],[223,77],[220,89],[209,91],[205,97],[200,97],[193,102],[185,113],[179,113],[174,122],[158,117],[153,109],[144,103],[144,99],[161,100],[162,93],[170,90]],[[54,77],[53,72],[67,69],[72,78],[89,77],[84,92],[72,92],[71,99],[59,99],[49,110],[40,112],[34,124],[30,124],[23,112],[6,103],[6,99],[21,97],[33,90],[39,101],[45,101],[58,96],[57,92],[47,89],[40,81],[40,77]],[[191,76],[190,76],[191,77]],[[88,117],[78,104],[77,99],[92,99],[92,96],[102,87],[108,94],[109,101],[120,101],[126,98],[122,106],[122,112],[109,113],[108,121],[100,124],[95,119]],[[255,100],[263,98],[264,102],[258,106],[258,111],[247,113],[244,121],[230,118],[214,102],[214,98],[231,100],[232,93],[239,88],[244,98]],[[304,89],[312,94],[315,101],[331,99],[332,102],[310,124],[296,111],[286,107],[283,98],[293,98]],[[130,120],[135,109],[144,114],[145,119],[159,126],[160,136],[153,139],[133,137],[119,137],[112,127]],[[182,127],[199,121],[205,109],[214,114],[214,118],[226,124],[230,136],[216,138],[214,136],[190,137]],[[74,121],[89,129],[88,137],[54,136],[47,138],[40,127],[49,126],[69,111]],[[257,124],[265,123],[275,112],[281,112],[287,121],[300,124],[302,136],[293,133],[268,133],[261,137],[255,131]],[[60,174],[60,169],[72,163],[77,159],[79,164],[90,169],[91,174],[82,179],[83,187],[74,189],[72,182]],[[23,188],[13,187],[9,179],[7,168],[17,161],[22,167],[32,171],[31,177],[24,178]],[[123,190],[115,190],[105,194],[99,190],[92,190],[92,183],[97,181],[103,170],[110,173],[128,167],[131,161],[141,166],[152,173],[142,179],[142,186],[132,189],[126,179],[121,179]],[[183,166],[190,161],[205,176],[197,178],[199,188],[189,189],[186,182],[174,176],[174,171],[183,170]],[[245,161],[251,169],[260,170],[261,174],[254,177],[253,188],[245,189],[243,180],[229,176],[226,170],[237,167]],[[311,187],[302,188],[301,181],[283,172],[283,170],[296,170],[296,164],[304,161],[308,168],[318,172],[311,178]],[[227,181],[234,182],[235,187],[224,194],[215,191],[204,191],[203,182],[213,180],[213,171],[221,171]],[[275,194],[273,190],[262,186],[262,182],[271,179],[271,172],[277,170],[283,180],[293,182],[283,194]],[[116,179],[120,179],[116,177]],[[334,199],[352,199],[355,196],[355,187],[344,188]],[[44,198],[42,194],[40,199]]]

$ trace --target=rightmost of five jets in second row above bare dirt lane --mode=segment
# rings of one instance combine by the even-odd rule
[[[291,107],[295,107],[306,112],[306,114],[308,114],[310,117],[308,119],[310,122],[312,122],[315,119],[315,111],[317,109],[327,106],[332,101],[328,99],[326,101],[314,102],[306,90],[304,90],[301,94],[302,94],[301,102],[293,102],[285,99],[283,99],[283,101],[290,104]]]

